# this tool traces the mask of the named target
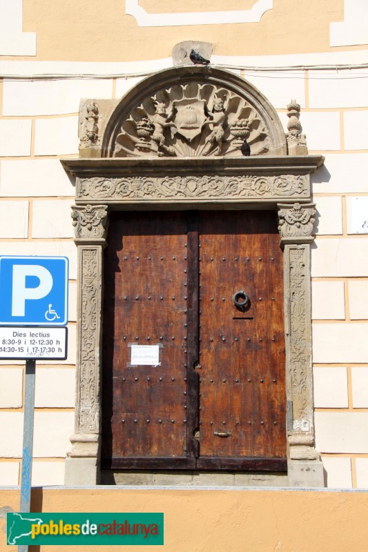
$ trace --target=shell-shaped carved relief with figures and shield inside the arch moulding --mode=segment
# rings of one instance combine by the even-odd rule
[[[141,99],[120,122],[113,157],[242,157],[271,148],[269,131],[249,101],[206,81],[176,83]]]

